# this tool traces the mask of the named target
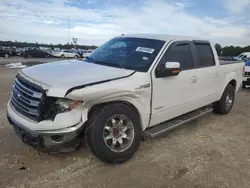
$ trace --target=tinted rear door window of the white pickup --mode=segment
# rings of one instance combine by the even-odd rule
[[[210,44],[195,43],[197,50],[199,67],[209,67],[215,65],[214,55]]]

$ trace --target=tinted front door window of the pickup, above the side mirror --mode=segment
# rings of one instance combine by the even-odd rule
[[[193,58],[188,43],[177,44],[170,47],[161,59],[160,64],[166,62],[179,62],[181,70],[193,68]]]

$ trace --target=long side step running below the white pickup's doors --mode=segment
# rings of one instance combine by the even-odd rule
[[[163,122],[159,125],[155,125],[154,127],[149,128],[146,131],[144,131],[143,138],[145,140],[152,139],[152,138],[159,136],[163,133],[166,133],[172,129],[175,129],[184,123],[190,122],[194,119],[197,119],[201,116],[204,116],[212,111],[213,111],[213,107],[206,106],[206,107],[200,108],[198,110],[189,112],[187,114],[181,115],[181,116],[174,118],[172,120]]]

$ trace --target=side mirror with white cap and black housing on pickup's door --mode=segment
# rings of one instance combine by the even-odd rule
[[[164,78],[169,76],[177,76],[180,71],[179,62],[166,62],[165,65],[161,64],[156,68],[155,77]]]

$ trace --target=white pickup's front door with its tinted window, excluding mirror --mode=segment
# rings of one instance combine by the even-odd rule
[[[177,76],[156,78],[160,64],[179,62]],[[197,75],[190,41],[173,42],[152,72],[152,118],[150,126],[196,109],[198,98]]]

